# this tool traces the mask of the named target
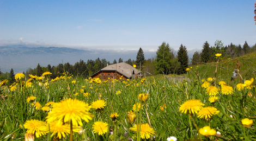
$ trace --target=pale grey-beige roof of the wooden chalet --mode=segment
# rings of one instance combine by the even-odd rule
[[[120,74],[126,76],[127,78],[131,78],[133,71],[134,71],[134,74],[138,74],[138,70],[136,68],[132,67],[131,65],[129,65],[129,64],[125,63],[125,62],[115,63],[115,64],[112,64],[112,65],[108,65],[107,67],[102,68],[101,70],[114,70],[114,71],[117,71]]]

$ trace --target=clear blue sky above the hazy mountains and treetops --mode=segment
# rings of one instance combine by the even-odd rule
[[[256,43],[255,0],[0,1],[0,46],[202,50]]]

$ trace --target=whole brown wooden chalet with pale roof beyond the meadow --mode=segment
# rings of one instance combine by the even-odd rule
[[[131,65],[121,62],[115,63],[113,65],[108,65],[105,68],[102,68],[98,72],[91,75],[91,78],[100,78],[102,80],[110,79],[132,79],[137,78],[137,76],[141,72],[138,71],[136,68],[132,67]],[[121,77],[123,76],[123,77]]]

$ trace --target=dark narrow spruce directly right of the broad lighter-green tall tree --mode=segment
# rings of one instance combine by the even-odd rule
[[[187,55],[187,48],[180,45],[177,55],[178,61],[180,62],[180,69],[178,71],[179,74],[183,74],[186,72],[186,68],[188,67],[188,55]]]

